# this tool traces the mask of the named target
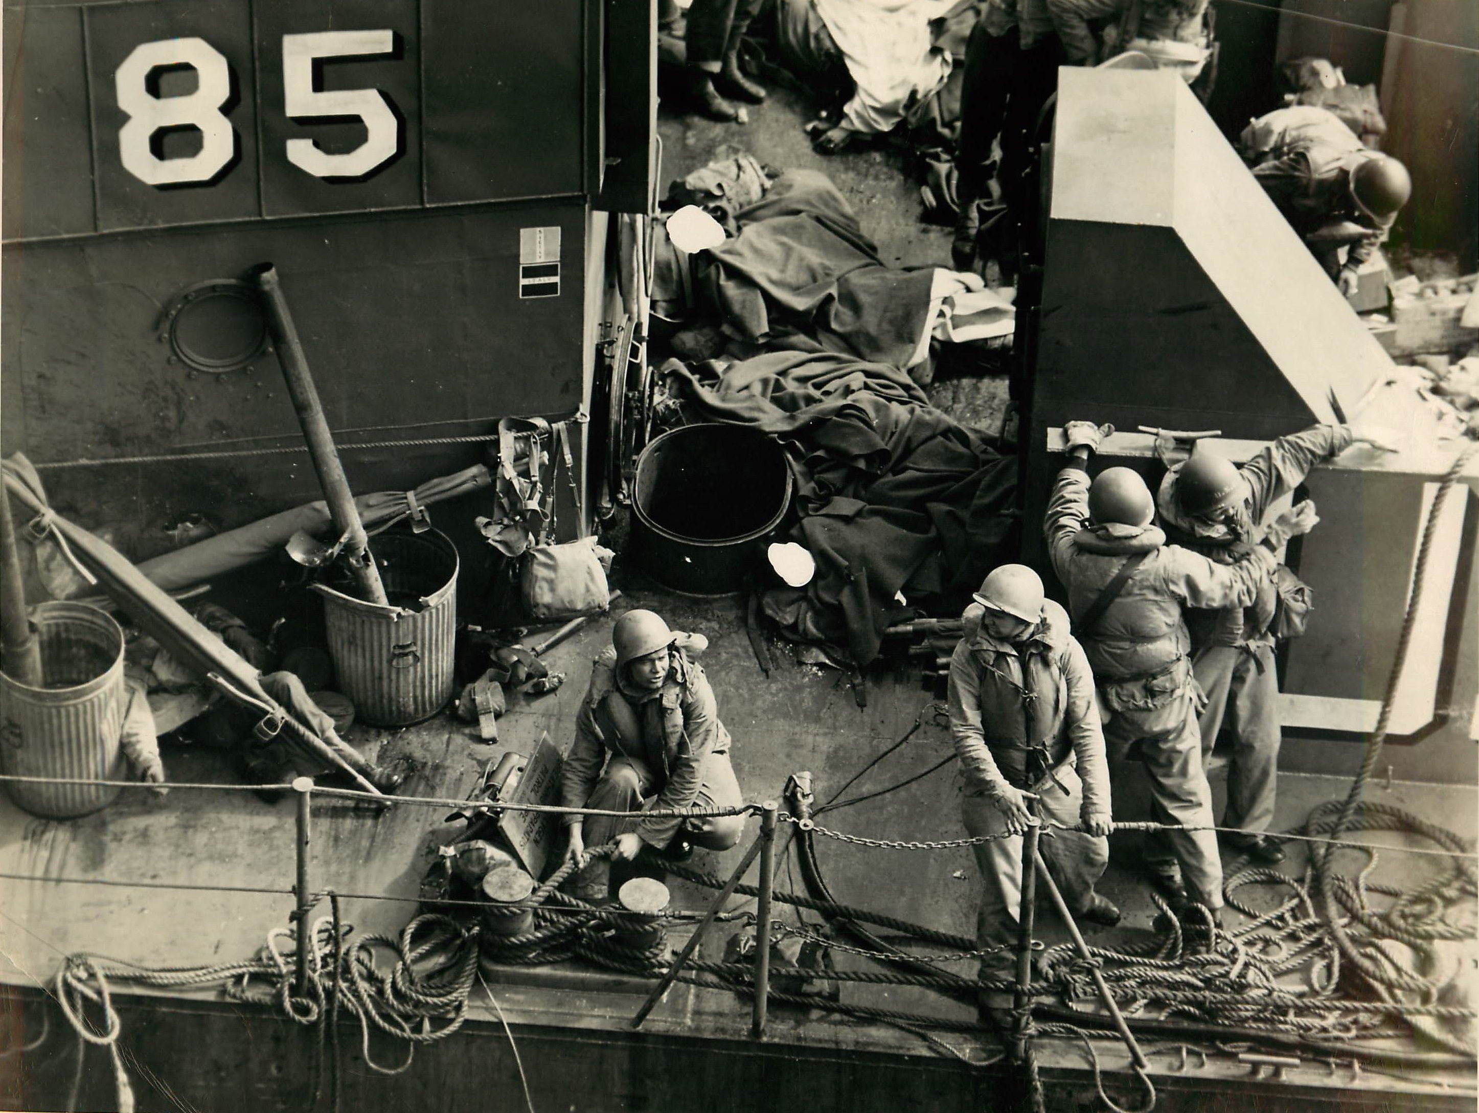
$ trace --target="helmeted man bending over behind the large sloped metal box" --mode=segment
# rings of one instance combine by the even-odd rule
[[[1398,160],[1365,146],[1328,108],[1279,108],[1248,124],[1244,160],[1347,297],[1412,195]],[[1341,263],[1340,248],[1347,248]]]

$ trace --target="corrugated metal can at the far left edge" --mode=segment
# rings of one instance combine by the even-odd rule
[[[81,603],[41,603],[31,621],[46,687],[0,673],[0,769],[12,776],[121,780],[123,631],[109,615]],[[86,816],[121,791],[19,780],[4,786],[16,804],[46,819]]]

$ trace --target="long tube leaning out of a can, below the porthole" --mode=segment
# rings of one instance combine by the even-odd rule
[[[324,488],[328,516],[334,522],[334,531],[345,542],[345,560],[365,600],[389,606],[385,584],[380,582],[380,569],[376,568],[374,559],[370,556],[370,538],[365,535],[364,523],[359,520],[359,508],[355,506],[353,492],[345,477],[345,466],[339,460],[334,438],[328,432],[324,404],[318,399],[318,387],[314,386],[314,377],[308,370],[303,341],[297,337],[297,327],[293,324],[287,299],[282,296],[282,282],[277,268],[263,263],[257,268],[256,278],[266,304],[272,343],[277,344],[278,364],[287,380],[287,392],[293,396],[293,408],[297,411],[299,424],[303,426],[308,454],[314,460],[314,470],[318,472],[318,483]]]

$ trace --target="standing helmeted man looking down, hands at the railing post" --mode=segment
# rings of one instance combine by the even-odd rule
[[[1120,909],[1094,893],[1109,862],[1109,772],[1089,659],[1068,633],[1068,613],[1043,597],[1037,572],[1003,565],[975,600],[950,662],[950,730],[966,780],[966,831],[1010,835],[973,850],[982,881],[976,946],[1003,947],[981,959],[981,977],[1012,980],[1029,800],[1052,832],[1040,847],[1069,911],[1120,922]],[[1083,832],[1059,829],[1080,823]],[[1012,993],[984,989],[981,1005],[1000,1018]]]

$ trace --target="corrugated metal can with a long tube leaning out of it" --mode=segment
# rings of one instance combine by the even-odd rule
[[[430,718],[453,698],[457,547],[445,534],[382,534],[370,542],[392,606],[351,599],[324,584],[328,655],[339,690],[371,726]]]

